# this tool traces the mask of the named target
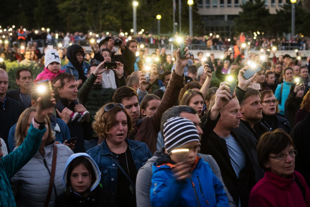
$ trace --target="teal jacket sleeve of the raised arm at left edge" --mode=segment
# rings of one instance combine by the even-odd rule
[[[10,180],[39,150],[46,129],[39,130],[30,125],[28,134],[15,151],[0,157],[0,206],[16,206]]]

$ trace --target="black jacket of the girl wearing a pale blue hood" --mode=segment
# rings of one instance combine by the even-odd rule
[[[70,199],[67,199],[66,192],[57,196],[56,205],[57,207],[96,207],[96,206],[107,206],[115,207],[114,197],[110,191],[100,187],[99,185],[91,191],[87,198],[83,199],[81,196],[70,193]]]

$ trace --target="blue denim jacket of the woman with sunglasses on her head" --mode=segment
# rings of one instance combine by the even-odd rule
[[[126,139],[126,142],[129,146],[135,166],[137,170],[139,170],[153,155],[143,142],[130,139]],[[110,158],[110,155],[113,156],[113,153],[110,151],[106,140],[100,145],[91,148],[86,153],[91,156],[99,167],[101,176],[100,183],[103,188],[112,191],[113,195],[116,196],[117,164]]]

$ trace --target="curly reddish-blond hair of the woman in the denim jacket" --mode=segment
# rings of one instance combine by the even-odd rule
[[[95,115],[95,121],[92,123],[92,127],[95,131],[95,133],[100,136],[100,137],[107,137],[108,134],[110,134],[108,131],[110,128],[112,128],[113,124],[115,123],[115,116],[117,112],[123,111],[127,117],[127,135],[129,135],[132,131],[133,123],[131,116],[128,114],[126,109],[116,106],[111,110],[104,111],[104,107],[106,107],[108,104],[107,103],[104,106],[102,106]],[[114,104],[117,104],[114,102]]]

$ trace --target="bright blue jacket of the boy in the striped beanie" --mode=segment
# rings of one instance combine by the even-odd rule
[[[228,199],[223,185],[213,174],[210,165],[202,158],[196,158],[196,165],[190,178],[178,181],[173,176],[175,166],[166,163],[153,164],[150,199],[153,207],[206,206],[228,207]]]

